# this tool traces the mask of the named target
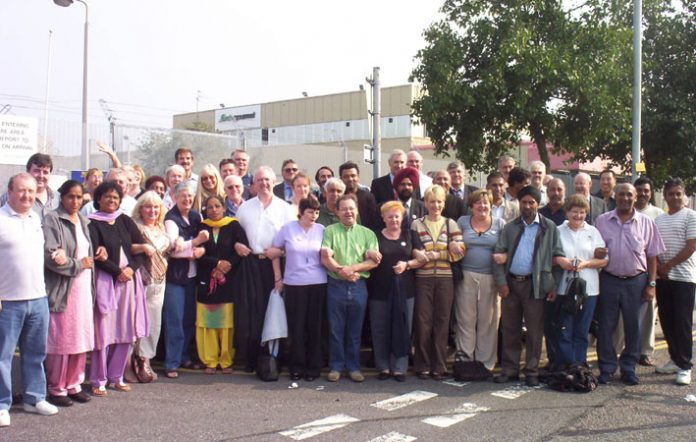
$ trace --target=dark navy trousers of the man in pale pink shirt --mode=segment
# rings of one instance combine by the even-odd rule
[[[643,290],[647,285],[647,273],[630,279],[619,279],[606,272],[599,275],[597,356],[602,373],[614,374],[620,366],[622,373],[635,374],[640,357],[640,319],[648,305],[643,302]],[[617,363],[612,335],[619,321],[619,311],[623,316],[626,344]]]

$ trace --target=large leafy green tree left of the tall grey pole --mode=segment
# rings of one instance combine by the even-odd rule
[[[413,115],[438,154],[486,170],[527,134],[547,166],[547,146],[582,160],[588,146],[630,142],[632,34],[611,20],[621,5],[566,3],[445,1],[411,74],[424,92]]]

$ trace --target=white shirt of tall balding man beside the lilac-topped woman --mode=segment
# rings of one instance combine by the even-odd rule
[[[273,196],[264,208],[258,197],[242,203],[237,210],[237,219],[244,228],[252,253],[259,255],[273,245],[273,237],[283,225],[297,220],[292,206]]]

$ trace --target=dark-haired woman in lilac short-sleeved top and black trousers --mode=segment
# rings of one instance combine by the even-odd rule
[[[320,249],[324,226],[317,224],[319,202],[300,200],[298,221],[285,224],[273,238],[270,256],[285,251],[285,309],[290,338],[290,377],[313,381],[321,371],[321,318],[326,299],[326,270]]]

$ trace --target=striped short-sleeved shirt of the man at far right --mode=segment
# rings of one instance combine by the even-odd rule
[[[667,248],[665,253],[658,256],[661,263],[677,256],[687,240],[696,238],[696,212],[687,207],[672,215],[665,213],[657,217],[655,224]],[[696,253],[673,267],[667,277],[672,281],[696,283]]]

